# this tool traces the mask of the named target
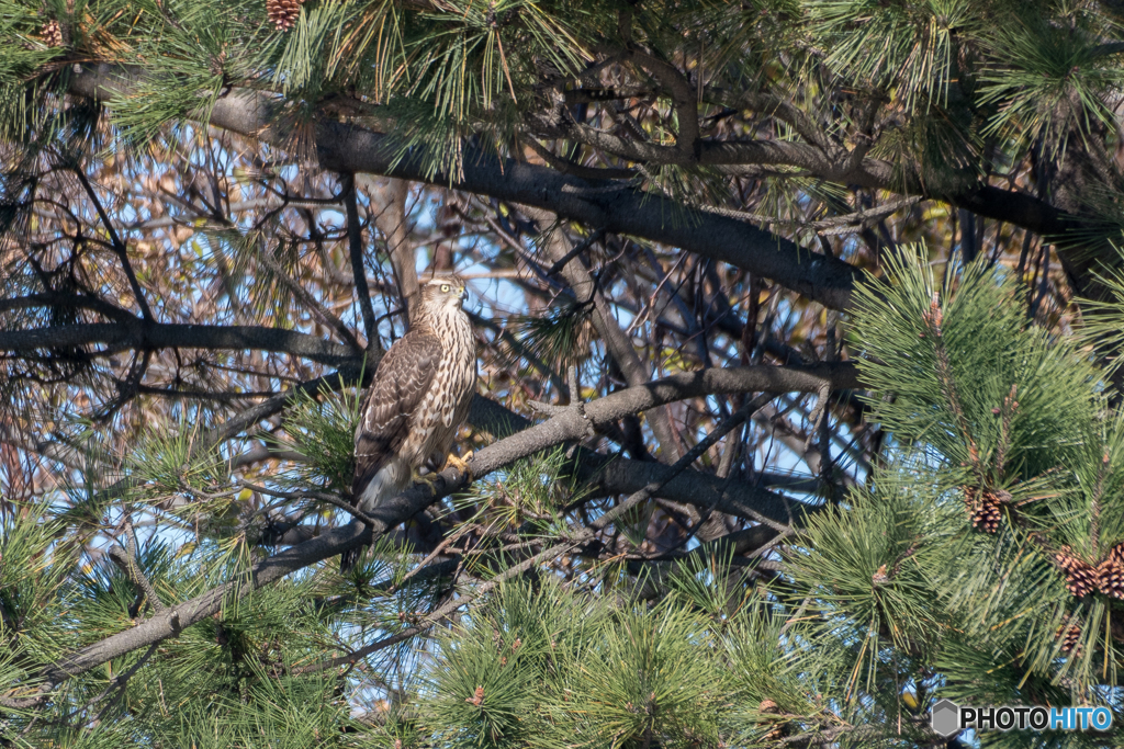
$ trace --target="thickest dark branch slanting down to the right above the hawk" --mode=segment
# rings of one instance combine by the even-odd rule
[[[133,85],[120,68],[84,67],[71,77],[71,91],[108,101],[129,95]],[[232,90],[211,111],[210,125],[283,147],[289,136],[277,125],[275,103],[262,92]],[[355,125],[317,125],[320,165],[337,172],[365,172],[452,186],[542,208],[563,218],[615,234],[644,237],[729,263],[772,278],[826,307],[846,309],[860,272],[834,257],[804,249],[791,240],[743,221],[691,211],[667,198],[645,194],[626,183],[598,183],[544,166],[499,159],[465,144],[456,177],[433,174],[419,158],[396,163],[387,136]]]

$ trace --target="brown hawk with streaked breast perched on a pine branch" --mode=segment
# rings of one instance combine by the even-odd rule
[[[422,287],[410,329],[379,363],[355,431],[352,505],[370,512],[399,494],[433,460],[463,462],[450,454],[477,389],[472,323],[463,309],[464,282],[435,277]],[[345,551],[347,572],[360,549]]]

